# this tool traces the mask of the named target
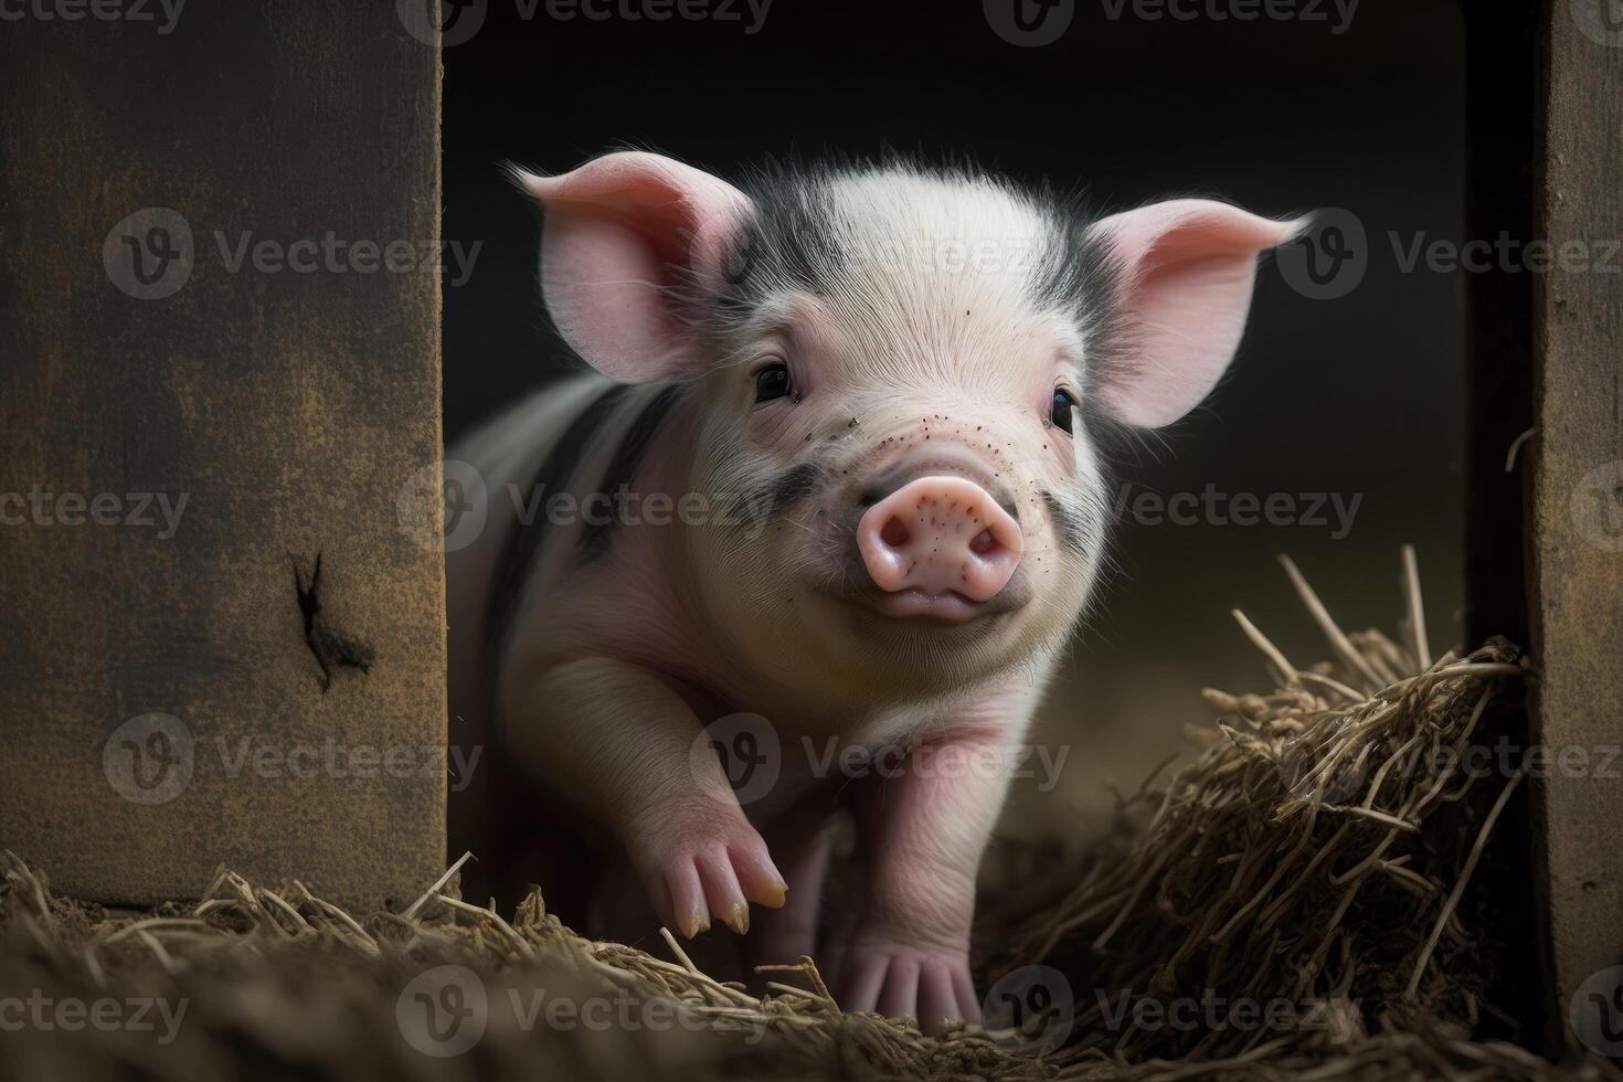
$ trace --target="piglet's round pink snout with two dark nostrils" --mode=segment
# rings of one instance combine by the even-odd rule
[[[997,597],[1021,553],[1019,524],[985,488],[962,477],[920,477],[875,503],[857,522],[857,550],[875,586]]]

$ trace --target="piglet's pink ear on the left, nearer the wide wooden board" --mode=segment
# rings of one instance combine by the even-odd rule
[[[605,154],[558,177],[514,178],[547,208],[540,287],[563,339],[623,383],[696,375],[683,297],[717,289],[748,198],[661,154]]]

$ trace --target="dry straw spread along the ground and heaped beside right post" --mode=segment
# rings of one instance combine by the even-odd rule
[[[5,853],[0,1004],[185,1014],[169,1030],[3,1032],[0,1077],[1623,1077],[1472,1040],[1509,949],[1472,881],[1522,774],[1467,771],[1462,753],[1529,668],[1498,639],[1433,659],[1412,553],[1406,568],[1399,644],[1344,634],[1287,561],[1331,663],[1295,667],[1237,613],[1277,691],[1208,691],[1220,717],[1191,733],[1191,766],[1123,801],[1117,835],[1037,889],[1040,908],[988,899],[984,986],[1031,1009],[995,1011],[990,1030],[930,1040],[842,1014],[810,959],[758,998],[669,934],[669,957],[584,939],[539,892],[511,920],[471,905],[456,868],[406,912],[364,920],[226,869],[201,904],[131,917],[52,897]],[[1191,1007],[1195,1024],[1165,1024]]]

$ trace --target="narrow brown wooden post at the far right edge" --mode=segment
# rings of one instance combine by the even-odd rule
[[[1623,47],[1547,5],[1539,235],[1566,266],[1537,276],[1532,646],[1543,665],[1535,790],[1553,1014],[1623,964]],[[1587,767],[1576,767],[1587,751]],[[1610,771],[1599,769],[1602,762]]]

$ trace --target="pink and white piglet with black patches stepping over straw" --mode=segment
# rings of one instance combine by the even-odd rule
[[[977,1019],[975,873],[1104,555],[1100,441],[1212,389],[1303,222],[911,164],[516,180],[591,370],[448,454],[489,500],[448,556],[453,725],[565,798],[617,934],[717,921],[846,1009]],[[706,732],[740,723],[776,749],[747,801]],[[860,899],[820,941],[841,816]]]

